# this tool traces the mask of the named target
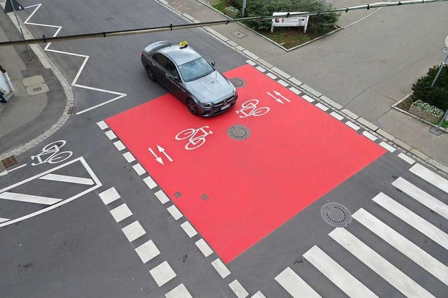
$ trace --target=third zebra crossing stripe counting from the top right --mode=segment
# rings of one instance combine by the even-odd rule
[[[408,225],[419,230],[422,234],[439,243],[445,249],[448,249],[448,235],[441,229],[435,227],[430,222],[424,220],[419,215],[416,215],[414,212],[397,203],[382,192],[377,194],[377,196],[373,198],[373,201],[385,208],[387,211],[393,213],[396,217],[405,221]]]

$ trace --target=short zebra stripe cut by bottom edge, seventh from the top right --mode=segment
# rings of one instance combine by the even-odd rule
[[[318,298],[321,297],[300,276],[295,274],[293,269],[286,268],[275,277],[279,283],[294,298]]]

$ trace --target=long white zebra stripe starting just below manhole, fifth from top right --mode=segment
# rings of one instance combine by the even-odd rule
[[[434,297],[346,229],[338,227],[328,235],[405,296]]]

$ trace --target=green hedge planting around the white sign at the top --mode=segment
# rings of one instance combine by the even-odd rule
[[[241,10],[243,0],[228,1],[232,6]],[[326,9],[332,9],[329,3]],[[325,10],[323,1],[316,0],[247,0],[245,17],[269,16],[276,12],[299,12]],[[314,35],[327,33],[337,22],[339,13],[326,13],[323,15],[311,15],[309,17],[307,32]],[[272,20],[248,21],[248,25],[256,30],[270,30]]]

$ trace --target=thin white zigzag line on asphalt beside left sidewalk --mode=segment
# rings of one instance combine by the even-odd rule
[[[29,20],[31,19],[31,17],[33,17],[34,13],[36,13],[36,11],[37,11],[39,8],[41,8],[41,6],[42,6],[42,3],[38,3],[38,4],[34,4],[34,5],[31,5],[31,6],[27,6],[27,7],[25,7],[25,9],[27,9],[27,8],[33,8],[33,7],[36,7],[36,8],[35,8],[34,11],[31,13],[31,15],[29,15],[29,17],[27,18],[27,20],[25,20],[25,22],[23,22],[23,23],[24,23],[24,24],[29,24],[29,25],[34,25],[34,26],[42,26],[42,27],[57,28],[55,34],[53,34],[53,36],[52,36],[52,37],[55,37],[55,36],[57,36],[57,34],[59,34],[59,31],[61,31],[62,26],[50,25],[50,24],[38,24],[38,23],[29,22]],[[80,88],[87,89],[87,90],[94,90],[94,91],[98,91],[98,92],[104,92],[104,93],[109,93],[109,94],[117,95],[117,97],[114,97],[113,99],[109,99],[108,101],[104,101],[104,102],[101,103],[101,104],[97,104],[96,106],[92,106],[92,107],[90,107],[90,108],[86,108],[86,109],[83,110],[83,111],[79,111],[79,112],[76,113],[76,115],[80,115],[80,114],[85,113],[85,112],[87,112],[87,111],[91,111],[91,110],[93,110],[94,108],[98,108],[99,106],[104,106],[105,104],[109,104],[109,103],[111,103],[112,101],[116,101],[116,100],[118,100],[118,99],[121,99],[121,98],[127,96],[127,94],[125,94],[125,93],[121,93],[121,92],[115,92],[115,91],[111,91],[111,90],[105,90],[105,89],[100,89],[100,88],[96,88],[96,87],[90,87],[90,86],[85,86],[85,85],[77,84],[76,81],[78,80],[80,74],[83,72],[84,66],[85,66],[85,64],[87,64],[87,60],[89,59],[90,56],[87,56],[87,55],[81,55],[81,54],[76,54],[76,53],[74,53],[74,52],[63,52],[63,51],[60,51],[60,50],[51,50],[51,49],[49,49],[50,45],[51,45],[51,43],[48,43],[48,44],[45,46],[45,48],[44,48],[43,50],[46,50],[46,51],[48,51],[48,52],[55,52],[55,53],[57,53],[57,54],[71,55],[71,56],[83,57],[83,58],[84,58],[84,62],[83,62],[83,64],[80,66],[80,69],[79,69],[78,73],[76,73],[76,76],[75,76],[73,82],[71,83],[71,85],[72,85],[73,87],[80,87]]]

